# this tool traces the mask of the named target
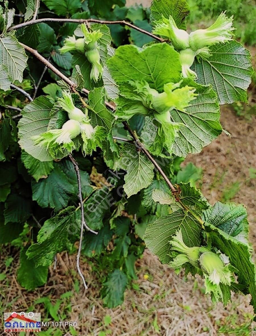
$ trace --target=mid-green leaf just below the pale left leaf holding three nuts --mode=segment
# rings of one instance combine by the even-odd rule
[[[53,170],[52,161],[41,162],[26,152],[22,152],[21,161],[37,182],[40,178],[46,178]]]

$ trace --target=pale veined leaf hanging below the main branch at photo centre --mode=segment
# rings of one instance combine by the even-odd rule
[[[120,156],[120,167],[127,171],[123,188],[127,197],[130,197],[151,183],[154,177],[154,165],[132,144],[125,145]]]

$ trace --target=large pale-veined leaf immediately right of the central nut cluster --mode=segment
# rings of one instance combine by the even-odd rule
[[[174,140],[173,153],[186,157],[189,153],[200,153],[204,146],[211,143],[221,132],[220,111],[215,92],[210,86],[197,85],[184,81],[196,88],[198,96],[192,100],[186,111],[172,110],[171,119],[184,124]]]

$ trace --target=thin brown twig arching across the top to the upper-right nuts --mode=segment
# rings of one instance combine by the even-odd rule
[[[27,22],[23,22],[23,23],[20,23],[18,25],[15,25],[15,26],[12,26],[8,29],[8,31],[10,30],[14,30],[14,29],[19,29],[19,28],[22,28],[22,27],[26,27],[26,26],[30,26],[30,25],[35,25],[37,23],[41,23],[41,22],[69,22],[69,23],[77,23],[77,24],[82,24],[82,23],[99,23],[99,24],[102,24],[102,25],[121,25],[121,26],[127,26],[127,27],[130,27],[130,28],[133,28],[135,30],[137,30],[138,32],[142,33],[142,34],[145,34],[145,35],[148,35],[150,37],[152,37],[153,39],[159,41],[159,42],[164,42],[164,41],[167,41],[165,39],[162,39],[161,37],[159,36],[156,36],[144,29],[141,29],[133,24],[131,24],[130,22],[127,22],[127,21],[124,21],[124,20],[120,20],[120,21],[105,21],[105,20],[97,20],[97,19],[69,19],[69,18],[42,18],[42,19],[35,19],[33,18],[33,20],[30,20],[30,21],[27,21]]]

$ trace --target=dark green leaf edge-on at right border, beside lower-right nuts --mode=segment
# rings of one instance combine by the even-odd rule
[[[206,229],[211,245],[227,255],[231,265],[235,267],[235,274],[238,276],[239,284],[245,286],[242,292],[251,294],[251,304],[256,313],[256,267],[252,261],[250,246],[248,243],[238,241],[235,237],[229,236],[211,224],[206,223]]]

